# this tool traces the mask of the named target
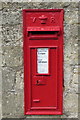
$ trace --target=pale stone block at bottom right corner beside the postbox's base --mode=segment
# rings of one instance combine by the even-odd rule
[[[64,97],[64,112],[66,116],[69,118],[78,118],[78,95],[77,94],[68,93]]]

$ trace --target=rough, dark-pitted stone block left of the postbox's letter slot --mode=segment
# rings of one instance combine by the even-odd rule
[[[2,44],[3,46],[23,46],[23,26],[22,25],[3,25],[2,27]]]

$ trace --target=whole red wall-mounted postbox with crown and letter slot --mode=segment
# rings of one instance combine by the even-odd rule
[[[63,9],[23,10],[26,115],[61,115]]]

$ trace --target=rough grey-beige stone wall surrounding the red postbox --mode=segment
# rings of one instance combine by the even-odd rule
[[[2,5],[1,5],[2,4]],[[2,117],[78,118],[78,2],[2,2]],[[63,8],[64,103],[61,116],[25,116],[22,9]]]

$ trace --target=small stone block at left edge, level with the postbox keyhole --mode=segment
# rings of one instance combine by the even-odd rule
[[[7,68],[7,67],[3,67],[2,69],[2,91],[4,92],[10,92],[11,90],[14,89],[14,85],[15,85],[15,80],[16,80],[16,76],[15,76],[16,72],[14,69],[12,68]]]

